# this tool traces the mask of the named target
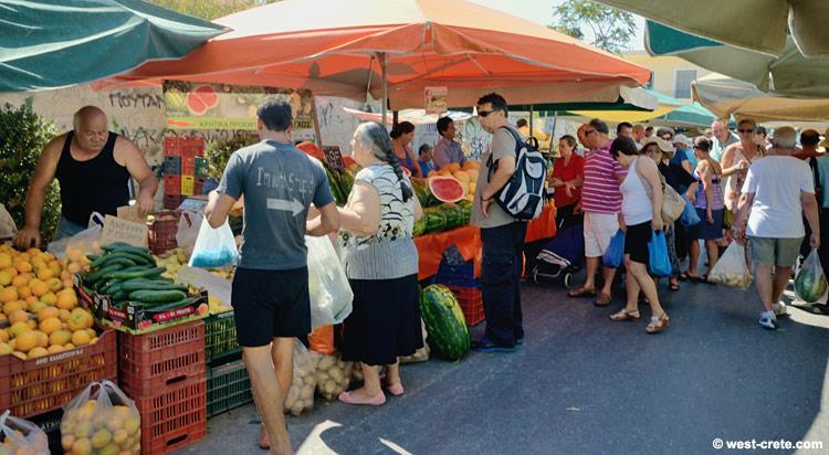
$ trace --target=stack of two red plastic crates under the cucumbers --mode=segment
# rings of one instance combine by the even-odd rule
[[[141,453],[167,454],[207,434],[204,322],[118,334],[120,387],[141,416]]]

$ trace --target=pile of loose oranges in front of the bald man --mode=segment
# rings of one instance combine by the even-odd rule
[[[92,314],[72,287],[72,275],[87,264],[83,255],[59,261],[0,245],[0,356],[34,359],[97,341]]]

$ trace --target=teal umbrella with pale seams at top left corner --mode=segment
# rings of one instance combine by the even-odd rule
[[[136,0],[0,0],[0,92],[65,87],[180,59],[228,29]]]

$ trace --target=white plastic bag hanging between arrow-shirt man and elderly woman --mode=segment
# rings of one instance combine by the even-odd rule
[[[308,246],[311,328],[340,324],[351,314],[354,293],[328,237],[305,236]]]

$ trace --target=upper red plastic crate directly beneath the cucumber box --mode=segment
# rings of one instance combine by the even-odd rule
[[[130,398],[204,377],[204,322],[146,335],[118,334],[120,385]]]

